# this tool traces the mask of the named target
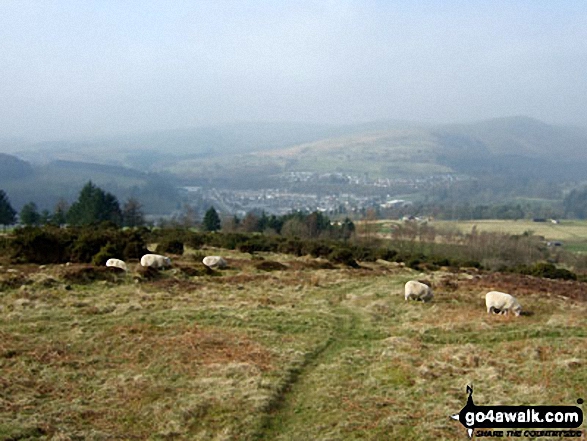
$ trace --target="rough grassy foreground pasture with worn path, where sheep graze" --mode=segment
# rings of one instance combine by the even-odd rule
[[[2,262],[0,438],[460,440],[467,384],[478,404],[584,397],[584,284],[206,252],[230,267]],[[433,302],[403,300],[412,278]],[[524,315],[488,316],[495,288]]]

